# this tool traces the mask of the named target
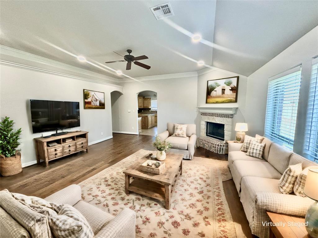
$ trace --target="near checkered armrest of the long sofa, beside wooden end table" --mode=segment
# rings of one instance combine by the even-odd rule
[[[305,216],[314,200],[291,194],[262,192],[256,195],[256,208],[295,216]]]

